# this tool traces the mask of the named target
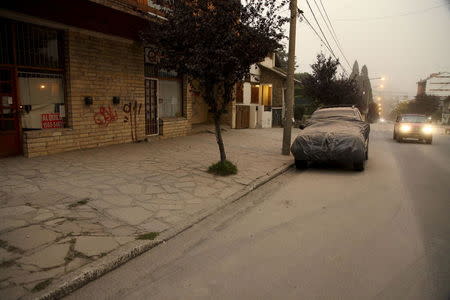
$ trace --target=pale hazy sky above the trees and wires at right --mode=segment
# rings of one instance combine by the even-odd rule
[[[314,0],[308,1],[320,22],[322,18]],[[320,0],[316,1],[321,7]],[[322,3],[350,64],[356,59],[360,67],[367,65],[370,77],[385,76],[385,91],[412,97],[419,79],[434,72],[450,72],[450,0],[322,0]],[[306,0],[298,0],[298,4],[317,28]],[[321,27],[336,56],[351,72],[323,22]],[[297,71],[309,72],[320,51],[329,53],[305,21],[298,23]],[[380,83],[372,81],[375,94]]]

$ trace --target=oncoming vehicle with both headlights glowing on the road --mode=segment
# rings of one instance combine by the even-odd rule
[[[394,125],[393,139],[402,142],[405,138],[414,138],[431,144],[433,142],[433,126],[430,123],[431,120],[425,115],[399,115]]]

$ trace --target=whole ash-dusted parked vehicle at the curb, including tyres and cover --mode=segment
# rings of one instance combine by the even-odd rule
[[[347,161],[355,170],[364,170],[370,125],[356,107],[320,108],[300,129],[291,146],[298,169],[312,161]]]

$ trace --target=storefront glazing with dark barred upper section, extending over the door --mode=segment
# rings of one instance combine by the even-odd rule
[[[0,66],[17,70],[14,101],[23,108],[22,128],[64,127],[63,31],[0,18],[0,33]]]

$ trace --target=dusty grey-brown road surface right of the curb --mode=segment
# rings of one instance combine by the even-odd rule
[[[366,171],[291,170],[70,299],[450,299],[450,136],[375,125]]]

